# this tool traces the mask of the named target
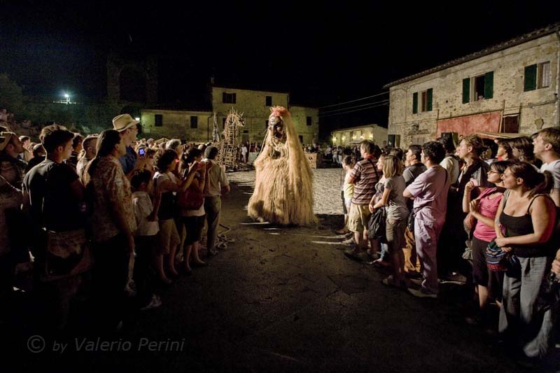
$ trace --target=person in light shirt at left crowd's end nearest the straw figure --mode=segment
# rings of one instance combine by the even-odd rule
[[[207,220],[207,254],[213,256],[217,254],[216,239],[218,238],[218,225],[220,224],[220,211],[222,209],[222,196],[230,192],[230,182],[225,176],[225,171],[218,163],[216,156],[218,148],[209,146],[204,152],[204,162],[209,164],[207,167],[208,178],[206,188],[204,188],[204,211]]]

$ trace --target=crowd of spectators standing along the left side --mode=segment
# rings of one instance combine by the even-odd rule
[[[41,325],[64,330],[80,297],[90,302],[92,328],[110,332],[127,310],[159,307],[158,284],[205,267],[202,253],[218,253],[221,197],[230,186],[211,143],[137,140],[139,121],[128,114],[85,137],[46,125],[35,145],[0,130],[3,304],[15,268],[32,262]]]

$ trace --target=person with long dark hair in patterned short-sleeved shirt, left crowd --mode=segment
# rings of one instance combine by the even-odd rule
[[[99,328],[114,330],[123,319],[123,288],[137,229],[132,190],[119,158],[127,148],[125,136],[108,129],[97,139],[97,155],[86,169],[85,185],[92,199],[94,293]],[[110,305],[110,307],[109,307]]]

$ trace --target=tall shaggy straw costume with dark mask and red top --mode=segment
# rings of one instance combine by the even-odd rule
[[[277,224],[316,223],[313,213],[313,174],[297,138],[290,112],[270,108],[265,143],[255,160],[255,192],[248,215]]]

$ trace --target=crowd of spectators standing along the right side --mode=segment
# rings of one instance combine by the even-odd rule
[[[560,279],[560,129],[359,150],[342,159],[345,255],[386,267],[384,285],[416,297],[436,298],[442,279],[464,274],[477,300],[465,321],[497,328],[528,359],[545,356],[559,324],[558,298],[540,297]]]

